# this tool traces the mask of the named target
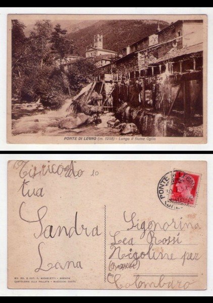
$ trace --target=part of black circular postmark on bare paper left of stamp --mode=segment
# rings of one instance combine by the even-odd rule
[[[173,203],[169,197],[172,193],[172,186],[175,182],[175,175],[178,170],[166,173],[157,184],[157,195],[161,203],[170,210],[179,210],[182,206]]]

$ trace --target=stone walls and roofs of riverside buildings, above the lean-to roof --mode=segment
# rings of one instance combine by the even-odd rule
[[[174,53],[175,57],[178,49],[202,43],[202,25],[202,20],[178,20],[162,30],[158,27],[156,33],[122,49],[123,57],[114,61],[113,66],[100,69],[100,72],[126,74],[129,78],[132,78],[131,73],[141,76],[149,74],[150,64],[159,62],[167,53]]]

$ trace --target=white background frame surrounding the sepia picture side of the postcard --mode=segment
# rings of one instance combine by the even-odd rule
[[[8,14],[206,14],[208,16],[207,58],[207,144],[8,144],[7,112],[7,15]],[[213,9],[212,8],[1,8],[0,11],[0,149],[1,150],[211,150],[213,147]]]

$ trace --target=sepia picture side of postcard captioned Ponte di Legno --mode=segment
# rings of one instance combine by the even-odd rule
[[[206,143],[206,15],[8,15],[8,143]]]

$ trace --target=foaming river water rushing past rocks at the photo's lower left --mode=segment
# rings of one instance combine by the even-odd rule
[[[44,110],[39,103],[13,105],[12,133],[14,135],[40,136],[118,136],[119,130],[108,127],[107,122],[113,113],[100,116],[101,123],[84,125],[75,129],[60,129],[59,122],[68,114],[73,113],[72,100],[67,99],[61,109]],[[22,117],[20,117],[22,115]],[[18,119],[17,119],[18,118]]]

